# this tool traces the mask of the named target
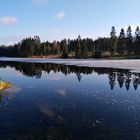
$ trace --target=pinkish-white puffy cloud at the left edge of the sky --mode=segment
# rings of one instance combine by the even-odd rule
[[[17,22],[17,18],[14,16],[0,17],[0,24],[11,25],[11,24],[15,24],[16,22]]]

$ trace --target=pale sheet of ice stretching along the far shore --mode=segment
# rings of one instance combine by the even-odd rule
[[[0,61],[54,63],[83,67],[128,69],[140,73],[140,59],[131,60],[103,60],[103,59],[42,59],[42,58],[0,58]]]

